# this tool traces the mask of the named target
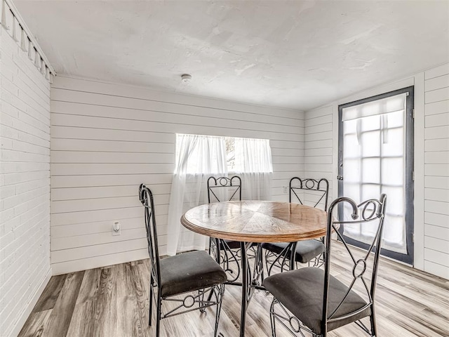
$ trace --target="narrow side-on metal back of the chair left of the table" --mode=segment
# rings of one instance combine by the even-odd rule
[[[140,202],[144,206],[145,230],[147,231],[149,269],[152,275],[152,282],[161,284],[159,267],[159,249],[157,243],[156,216],[154,215],[154,199],[152,191],[144,184],[139,186]]]

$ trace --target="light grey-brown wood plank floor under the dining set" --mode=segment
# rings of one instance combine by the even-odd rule
[[[333,265],[347,270],[335,244]],[[148,324],[148,260],[123,263],[51,278],[20,337],[134,337],[154,336]],[[227,286],[219,331],[239,336],[238,286]],[[246,321],[246,336],[271,336],[269,305],[272,297],[256,291]],[[379,336],[449,336],[449,281],[382,258],[377,280]],[[153,317],[154,319],[154,317]],[[161,336],[213,336],[215,315],[208,308],[162,320]],[[153,320],[154,322],[154,320]],[[290,336],[278,330],[277,336]],[[366,336],[355,324],[330,336]]]

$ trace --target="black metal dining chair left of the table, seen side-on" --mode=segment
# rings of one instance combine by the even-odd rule
[[[149,253],[148,325],[152,325],[153,297],[156,299],[156,337],[159,337],[161,319],[192,310],[204,312],[206,308],[215,305],[217,310],[214,336],[216,337],[227,281],[226,273],[206,251],[192,251],[159,259],[153,194],[144,184],[139,187],[139,198],[145,207]],[[205,296],[208,296],[207,300],[204,299]],[[170,301],[171,305],[165,313],[162,313],[164,301]]]

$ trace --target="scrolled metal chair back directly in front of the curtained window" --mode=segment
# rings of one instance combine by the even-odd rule
[[[223,188],[225,187],[225,188]],[[227,197],[220,195],[217,190],[223,190],[228,192]],[[218,195],[217,195],[218,194]],[[231,197],[229,197],[231,194]],[[215,178],[211,176],[208,178],[208,203],[220,202],[220,201],[233,201],[241,200],[241,179],[239,176],[233,176],[232,178],[219,177]]]

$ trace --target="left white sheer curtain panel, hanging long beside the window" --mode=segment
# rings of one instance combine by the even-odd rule
[[[176,135],[175,174],[168,206],[167,254],[204,250],[208,238],[180,223],[182,214],[194,206],[206,204],[206,180],[209,176],[227,176],[225,138]],[[199,173],[201,172],[201,173]]]

